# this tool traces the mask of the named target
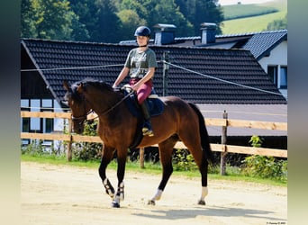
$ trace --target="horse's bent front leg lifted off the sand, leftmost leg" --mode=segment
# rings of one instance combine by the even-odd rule
[[[104,189],[111,198],[114,197],[114,188],[106,176],[106,168],[108,164],[110,163],[110,161],[113,159],[114,151],[115,151],[114,148],[109,148],[106,146],[103,147],[103,156],[101,160],[101,165],[99,166],[99,169],[98,169],[98,173],[102,179]]]

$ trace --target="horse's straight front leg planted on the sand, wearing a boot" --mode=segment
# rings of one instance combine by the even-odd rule
[[[114,195],[112,206],[114,208],[120,208],[120,201],[124,200],[124,174],[125,174],[125,165],[127,158],[127,149],[128,148],[119,148],[117,151],[117,177],[118,177],[118,189]]]

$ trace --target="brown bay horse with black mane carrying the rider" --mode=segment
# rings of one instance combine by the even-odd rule
[[[73,130],[80,134],[84,129],[86,116],[95,112],[98,116],[97,133],[103,140],[103,153],[98,173],[102,179],[105,192],[112,198],[112,207],[120,208],[124,199],[124,173],[128,149],[133,143],[138,118],[133,116],[124,103],[129,95],[113,89],[103,81],[85,79],[71,86],[63,82],[66,90],[65,101],[72,112]],[[209,135],[205,128],[204,117],[195,103],[187,103],[177,96],[159,97],[164,103],[164,111],[151,117],[154,136],[143,136],[136,148],[159,145],[159,159],[162,166],[162,178],[149,204],[161,198],[161,195],[173,172],[172,153],[177,141],[181,140],[195,158],[201,174],[202,192],[198,204],[205,205],[208,194],[207,173],[209,164],[213,163],[213,151]],[[106,176],[106,167],[117,156],[117,191]]]

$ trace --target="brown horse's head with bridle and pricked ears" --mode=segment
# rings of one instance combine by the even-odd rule
[[[86,103],[85,96],[82,94],[83,83],[75,83],[70,87],[68,82],[64,81],[63,86],[67,91],[64,99],[72,111],[73,130],[81,134],[84,131],[86,116],[91,110],[90,105]]]

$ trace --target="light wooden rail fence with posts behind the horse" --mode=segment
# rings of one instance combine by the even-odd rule
[[[58,118],[68,120],[68,134],[65,133],[21,133],[21,139],[53,139],[53,140],[65,140],[68,141],[68,151],[67,158],[68,161],[72,158],[71,143],[77,141],[83,142],[97,142],[103,143],[98,136],[83,136],[72,134],[70,132],[72,127],[71,113],[70,112],[21,112],[22,118]],[[242,121],[242,120],[230,120],[225,116],[222,119],[216,118],[206,118],[206,126],[220,126],[222,127],[222,144],[211,144],[213,151],[222,152],[221,170],[224,174],[224,157],[227,153],[240,153],[249,155],[262,155],[262,156],[272,156],[272,157],[287,157],[286,149],[275,149],[275,148],[254,148],[245,146],[234,146],[227,145],[225,140],[227,139],[227,127],[237,127],[237,128],[251,128],[251,129],[261,129],[261,130],[287,130],[286,122],[271,122],[271,121]],[[223,143],[224,142],[224,143]],[[158,146],[158,145],[155,145]],[[186,146],[178,141],[175,148],[186,148]],[[143,150],[143,149],[141,149]],[[141,155],[141,152],[140,152]],[[142,157],[140,157],[142,158]],[[141,162],[142,164],[143,162]]]

